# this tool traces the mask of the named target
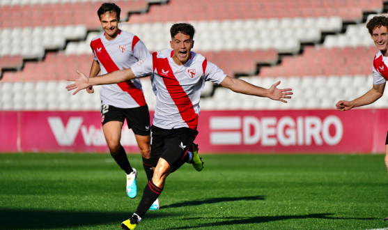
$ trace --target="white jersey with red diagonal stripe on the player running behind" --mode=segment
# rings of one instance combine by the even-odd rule
[[[93,38],[91,48],[94,60],[100,63],[102,75],[130,68],[133,63],[150,56],[146,45],[137,36],[127,31],[119,31],[118,36],[113,40],[107,40],[104,33],[101,33]],[[102,105],[123,109],[146,105],[139,79],[103,85],[100,98]]]

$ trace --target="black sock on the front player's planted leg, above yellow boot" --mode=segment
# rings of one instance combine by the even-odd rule
[[[139,206],[137,206],[136,215],[139,215],[140,218],[146,214],[150,206],[153,205],[153,202],[156,201],[157,197],[162,193],[163,188],[157,187],[153,180],[148,181],[148,185],[144,188],[143,197]]]

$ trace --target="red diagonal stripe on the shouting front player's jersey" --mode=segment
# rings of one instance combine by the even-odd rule
[[[169,60],[158,59],[157,52],[153,53],[153,68],[157,70],[157,75],[163,78],[164,85],[170,96],[178,108],[179,114],[183,121],[187,123],[189,128],[196,130],[198,125],[198,114],[195,113],[192,101],[187,93],[180,86],[178,80],[173,75],[173,70],[169,64]]]

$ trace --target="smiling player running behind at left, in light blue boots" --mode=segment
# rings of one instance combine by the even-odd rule
[[[137,36],[118,29],[121,9],[115,3],[103,3],[97,13],[104,33],[91,41],[94,60],[89,77],[96,77],[100,70],[104,75],[114,70],[130,68],[133,63],[150,56],[150,52]],[[93,93],[93,86],[88,87],[86,91]],[[134,198],[137,196],[137,171],[131,167],[120,144],[125,118],[128,128],[132,128],[137,140],[148,181],[153,178],[150,160],[150,115],[141,83],[139,79],[131,79],[102,86],[100,97],[102,130],[109,151],[127,174],[126,192],[128,197]],[[151,209],[159,209],[159,200],[155,201]]]

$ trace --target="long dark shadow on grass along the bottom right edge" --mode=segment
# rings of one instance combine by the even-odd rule
[[[185,218],[184,220],[203,220],[203,219],[211,219],[211,220],[220,220],[219,222],[212,222],[206,224],[197,224],[196,226],[190,227],[179,227],[179,228],[171,228],[173,229],[196,229],[199,227],[216,227],[216,226],[230,226],[230,225],[238,225],[238,224],[260,224],[265,222],[279,221],[279,220],[293,220],[293,219],[325,219],[325,220],[377,220],[377,218],[346,218],[346,217],[329,217],[329,215],[334,215],[333,213],[317,213],[317,214],[309,214],[309,215],[279,215],[274,217],[195,217],[195,218]],[[164,229],[166,230],[166,229]]]

